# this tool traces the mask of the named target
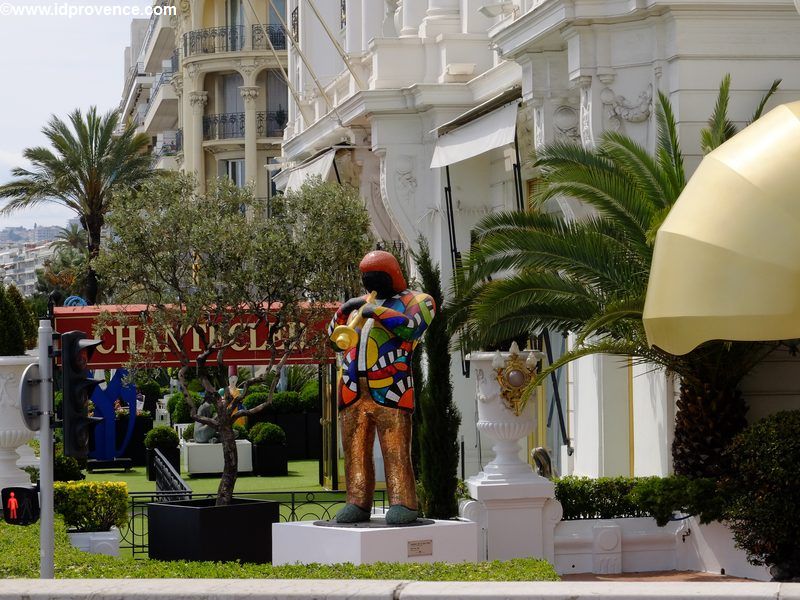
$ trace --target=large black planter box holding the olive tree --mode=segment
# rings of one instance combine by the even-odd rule
[[[152,502],[147,505],[148,555],[156,560],[272,561],[272,524],[280,504],[234,498]]]

